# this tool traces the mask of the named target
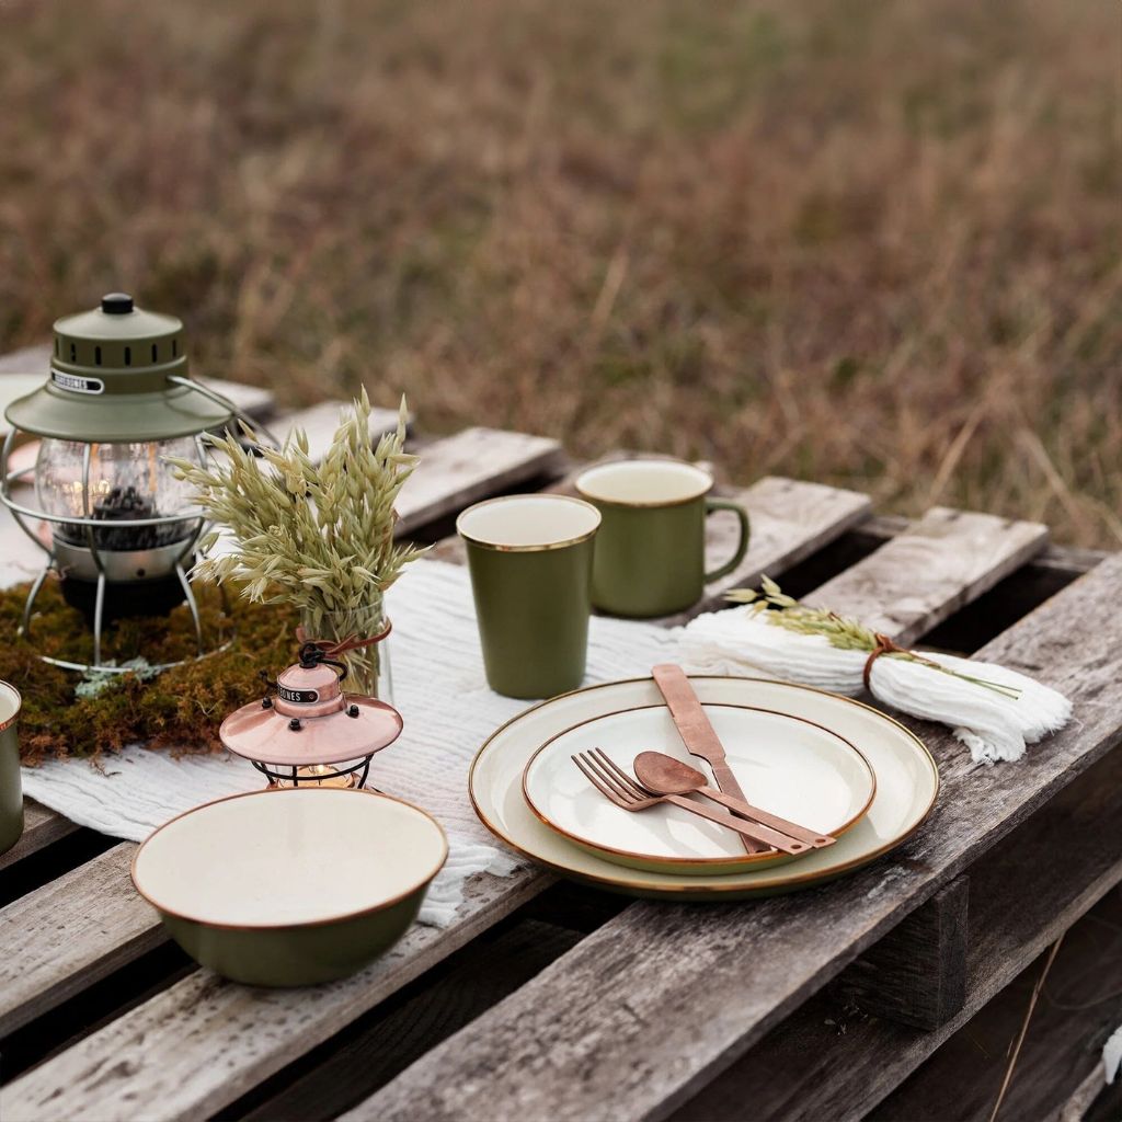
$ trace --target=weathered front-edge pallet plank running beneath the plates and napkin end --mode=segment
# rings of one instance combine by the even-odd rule
[[[1115,558],[980,652],[1064,690],[1078,717],[1015,766],[978,769],[930,733],[942,797],[894,854],[803,894],[628,908],[347,1118],[670,1113],[1119,742],[1122,619],[1103,605],[1120,594]]]

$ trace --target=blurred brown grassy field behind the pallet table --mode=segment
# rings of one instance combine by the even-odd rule
[[[0,349],[126,287],[202,374],[1122,544],[1103,0],[0,7]]]

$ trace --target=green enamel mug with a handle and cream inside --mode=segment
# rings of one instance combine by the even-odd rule
[[[679,460],[617,460],[589,468],[577,490],[603,516],[592,564],[592,604],[615,616],[666,616],[697,604],[710,580],[732,572],[748,548],[743,506],[710,498],[712,476]],[[739,522],[733,555],[705,571],[705,523],[715,511]]]

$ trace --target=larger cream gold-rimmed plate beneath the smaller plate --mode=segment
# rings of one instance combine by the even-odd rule
[[[736,900],[790,892],[865,865],[912,834],[935,804],[939,790],[935,761],[902,725],[875,709],[789,682],[707,675],[691,675],[690,681],[702,705],[771,709],[802,717],[859,744],[876,775],[876,793],[867,813],[836,845],[797,862],[715,876],[623,868],[561,837],[526,803],[523,770],[546,741],[582,721],[661,705],[650,678],[563,693],[495,732],[471,765],[468,785],[476,813],[508,845],[574,880],[637,896]]]

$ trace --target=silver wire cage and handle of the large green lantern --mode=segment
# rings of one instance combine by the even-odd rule
[[[241,410],[239,410],[232,402],[223,397],[221,394],[215,393],[209,387],[200,385],[200,383],[191,378],[177,378],[172,377],[167,379],[168,381],[175,383],[176,385],[185,386],[192,390],[201,393],[204,397],[210,398],[215,403],[220,403],[227,406],[232,416],[242,425],[247,434],[252,434],[255,438],[255,443],[257,442],[256,436],[258,433],[263,433],[267,440],[269,440],[274,445],[279,447],[279,441],[259,422],[249,419]],[[35,600],[39,595],[47,577],[54,571],[63,576],[63,564],[58,558],[58,543],[54,534],[50,535],[50,544],[44,541],[43,536],[36,532],[35,523],[45,522],[52,525],[64,525],[68,532],[73,532],[71,527],[77,527],[82,531],[83,542],[82,545],[89,550],[90,555],[93,560],[93,564],[96,568],[96,585],[94,592],[94,604],[93,604],[93,662],[82,663],[73,662],[64,659],[55,659],[48,655],[42,655],[44,662],[48,662],[52,665],[59,666],[64,670],[80,671],[83,673],[96,672],[107,674],[121,674],[128,673],[128,666],[117,666],[103,663],[101,660],[102,650],[102,635],[104,631],[104,613],[105,613],[105,589],[111,582],[112,578],[108,572],[107,558],[104,557],[104,549],[99,549],[98,545],[98,533],[104,534],[107,528],[111,528],[113,532],[118,530],[158,530],[174,528],[177,526],[184,526],[190,524],[187,532],[184,536],[180,537],[174,544],[177,546],[177,551],[172,559],[171,571],[174,572],[176,579],[178,580],[180,587],[183,590],[183,597],[186,601],[187,609],[191,613],[191,620],[195,633],[195,649],[197,659],[206,657],[210,654],[215,654],[219,651],[224,650],[229,646],[229,642],[223,643],[211,651],[206,650],[205,641],[203,638],[203,627],[202,619],[199,613],[199,603],[195,599],[194,590],[191,587],[191,581],[187,577],[187,570],[185,565],[190,562],[190,559],[194,554],[195,546],[199,544],[200,539],[203,536],[204,532],[208,530],[209,523],[204,515],[192,514],[190,511],[175,511],[165,515],[153,515],[150,517],[139,517],[139,518],[113,518],[111,523],[108,523],[94,516],[94,512],[91,506],[91,488],[90,488],[90,471],[91,471],[91,459],[93,454],[93,443],[79,442],[82,443],[82,478],[81,478],[81,506],[82,514],[74,515],[71,513],[56,513],[42,508],[36,508],[27,506],[16,499],[12,495],[12,485],[20,482],[28,482],[28,477],[33,476],[36,470],[36,465],[28,465],[27,467],[19,468],[15,471],[10,470],[10,459],[11,452],[16,444],[16,438],[19,433],[19,429],[16,425],[11,425],[4,438],[3,450],[0,452],[0,503],[2,503],[10,512],[15,518],[17,525],[24,531],[27,536],[35,542],[35,544],[44,551],[47,555],[46,564],[43,570],[36,576],[35,580],[31,582],[31,588],[27,596],[27,603],[24,605],[22,619],[19,627],[19,634],[21,636],[27,636],[30,634],[31,625],[31,614],[35,607]],[[206,449],[206,443],[202,433],[193,434],[195,453],[199,457],[200,462],[204,462],[209,452]],[[158,442],[153,442],[158,443]],[[40,503],[42,507],[43,504]],[[30,519],[30,524],[29,521]],[[223,603],[226,594],[222,592]],[[182,665],[187,662],[187,659],[181,659],[174,662],[165,662],[153,666],[155,671],[169,670],[172,666]]]

